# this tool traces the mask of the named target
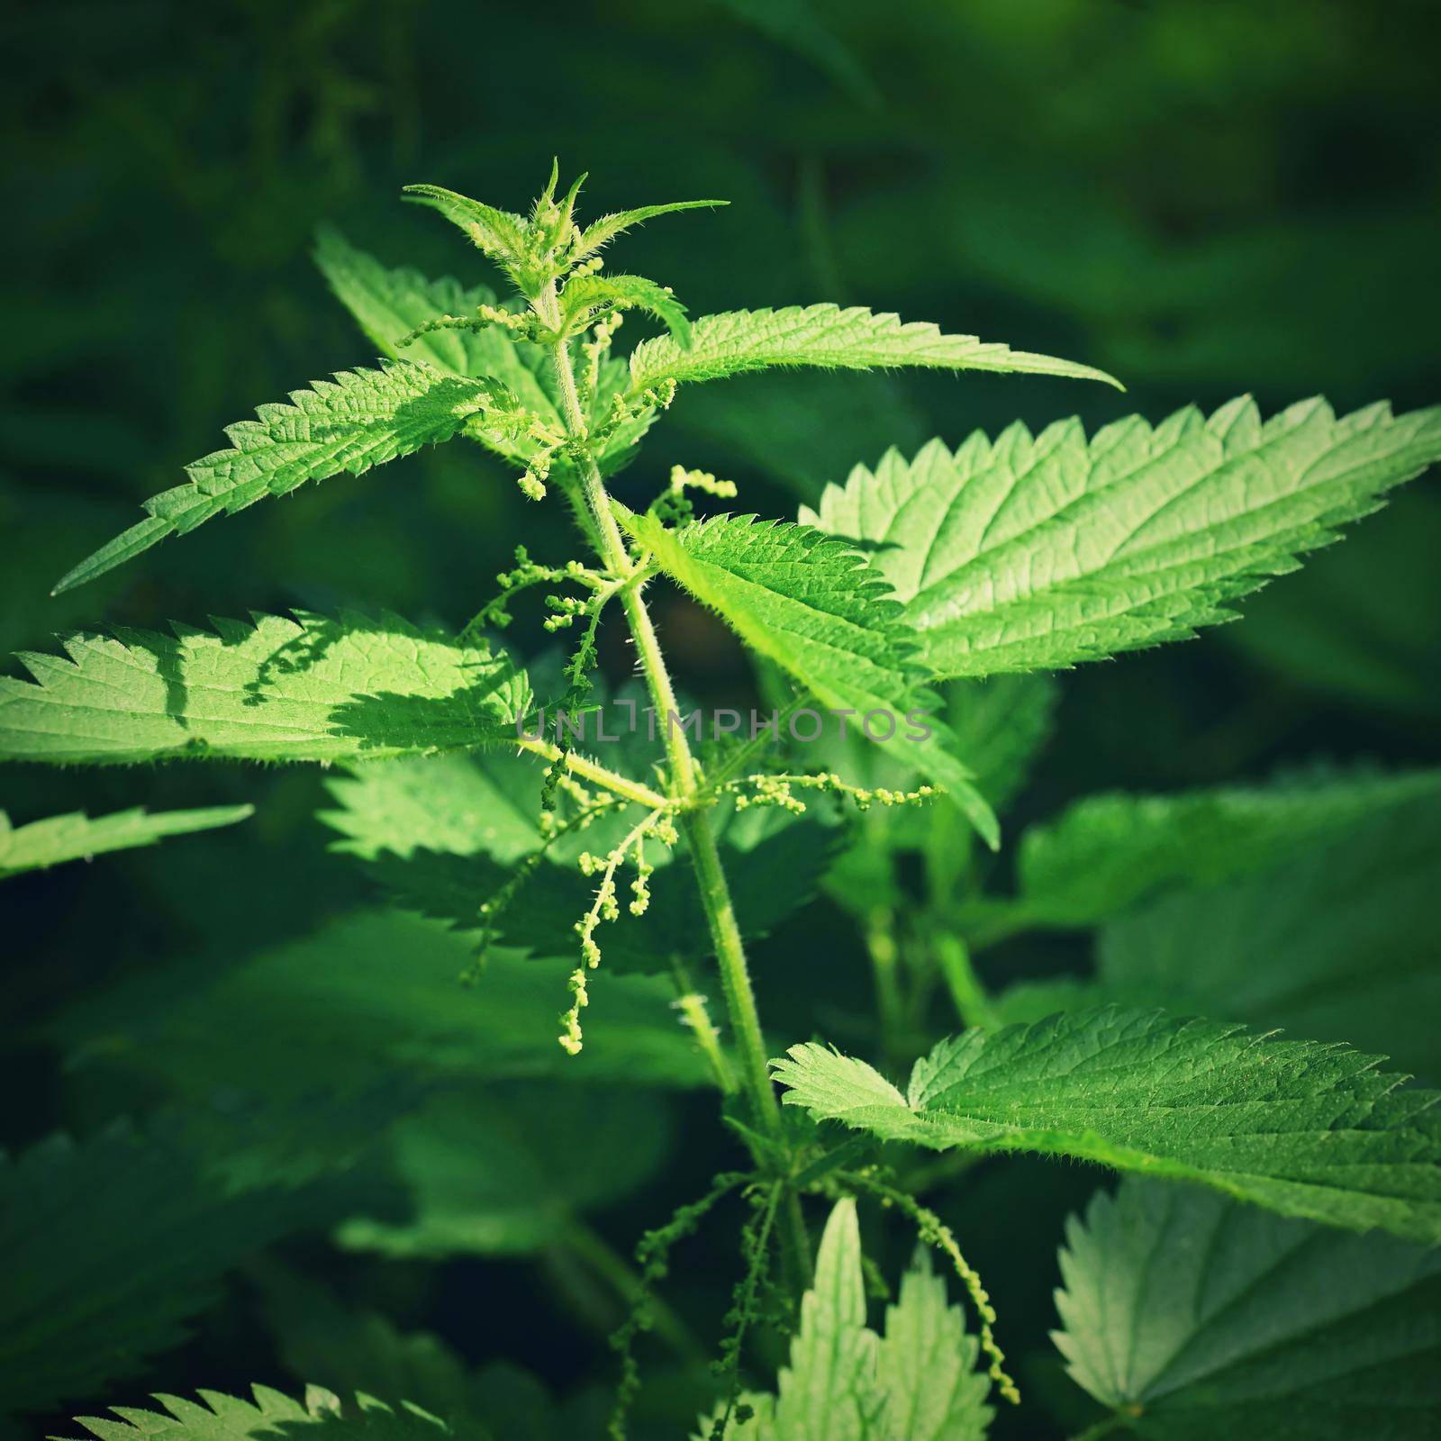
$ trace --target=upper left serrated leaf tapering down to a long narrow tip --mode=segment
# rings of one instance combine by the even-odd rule
[[[499,380],[445,375],[421,360],[386,360],[379,370],[340,370],[293,391],[290,405],[262,405],[258,419],[226,429],[232,450],[186,467],[184,486],[146,501],[138,525],[101,546],[55,586],[61,594],[133,561],[171,535],[186,535],[265,496],[448,441],[463,428],[510,429],[525,412]],[[499,416],[499,421],[496,418]]]

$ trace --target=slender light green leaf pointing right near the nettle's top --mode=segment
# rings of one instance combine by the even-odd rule
[[[928,321],[905,324],[899,316],[876,314],[860,305],[788,305],[784,310],[731,310],[702,316],[682,347],[660,336],[631,353],[631,391],[664,380],[716,380],[768,366],[821,366],[873,370],[924,366],[937,370],[1023,370],[1032,375],[1105,380],[1091,366],[1053,356],[1030,354],[976,336],[948,336]]]

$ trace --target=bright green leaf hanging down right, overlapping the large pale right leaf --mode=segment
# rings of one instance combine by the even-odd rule
[[[945,744],[950,732],[914,663],[899,607],[860,558],[810,526],[716,516],[670,530],[654,516],[615,509],[672,579],[829,710],[844,712],[847,726],[876,733],[876,744],[944,785],[997,844],[994,814]]]

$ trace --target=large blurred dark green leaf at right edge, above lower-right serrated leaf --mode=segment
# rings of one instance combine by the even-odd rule
[[[1366,814],[1320,827],[1304,844],[1277,837],[1270,852],[1252,852],[1235,839],[1248,872],[1114,915],[1097,932],[1094,980],[1013,986],[997,1000],[1000,1013],[1032,1020],[1102,1000],[1166,1001],[1349,1040],[1441,1076],[1429,1025],[1441,984],[1432,924],[1441,807],[1417,781],[1424,775],[1373,784]]]

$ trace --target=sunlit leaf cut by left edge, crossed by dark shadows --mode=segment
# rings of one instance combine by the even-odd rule
[[[22,654],[35,682],[0,677],[0,759],[379,759],[513,742],[529,709],[504,653],[395,617],[212,625]]]

